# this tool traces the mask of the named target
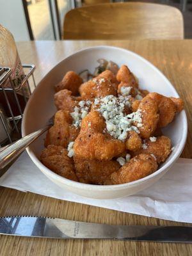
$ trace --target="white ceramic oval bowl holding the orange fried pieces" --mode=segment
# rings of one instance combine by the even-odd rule
[[[90,47],[65,58],[56,67],[52,68],[38,84],[24,111],[24,118],[22,120],[23,136],[44,127],[47,120],[56,112],[54,106],[54,84],[62,79],[63,74],[69,70],[74,70],[78,73],[86,68],[93,72],[98,65],[97,60],[99,58],[114,61],[119,66],[122,64],[127,65],[138,77],[141,88],[166,96],[179,97],[170,81],[154,65],[138,56],[138,54],[117,47]],[[186,113],[182,111],[177,115],[174,122],[163,131],[165,135],[171,138],[172,146],[175,149],[166,162],[161,165],[161,168],[143,179],[113,186],[98,186],[74,182],[57,175],[45,167],[39,160],[40,152],[44,148],[45,134],[30,145],[27,150],[36,166],[61,188],[90,198],[119,198],[137,193],[159,180],[175,163],[182,152],[186,142],[187,130]]]

